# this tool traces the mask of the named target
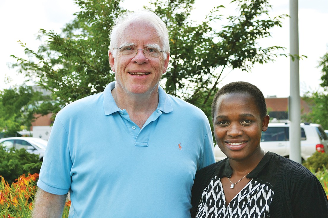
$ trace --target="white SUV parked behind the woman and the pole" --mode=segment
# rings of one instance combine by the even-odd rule
[[[289,157],[289,123],[269,123],[268,130],[262,132],[261,148],[284,157]],[[301,123],[301,157],[306,160],[316,151],[328,153],[328,137],[321,125]],[[216,161],[226,158],[219,147],[214,147]]]

